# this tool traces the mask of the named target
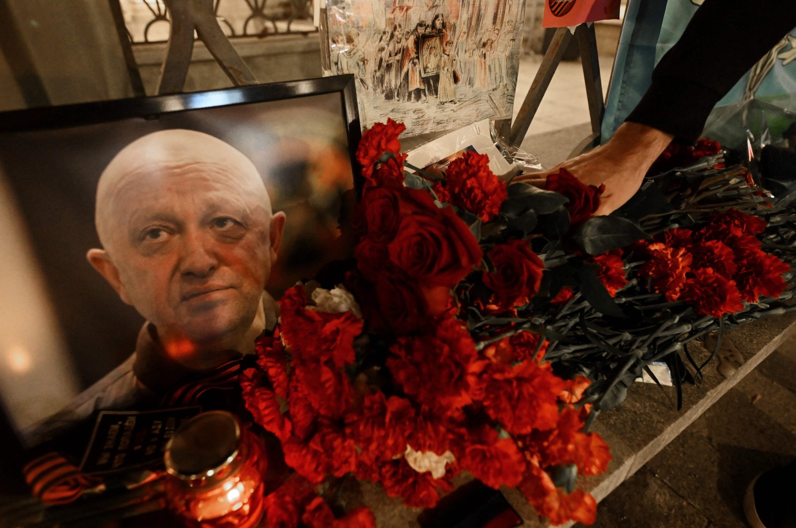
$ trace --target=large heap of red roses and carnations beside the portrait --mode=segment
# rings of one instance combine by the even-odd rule
[[[759,237],[786,222],[715,156],[700,181],[653,179],[593,217],[603,189],[566,171],[544,188],[505,183],[466,152],[444,177],[409,173],[403,130],[388,120],[363,135],[354,262],[339,284],[285,294],[242,378],[248,410],[307,487],[353,474],[433,507],[467,472],[517,487],[556,524],[591,523],[595,500],[575,478],[611,455],[586,424],[728,314],[785,309],[771,301],[790,296],[790,266]],[[673,182],[699,192],[670,203]],[[268,521],[315,526],[310,499],[291,500],[291,514],[271,501]]]

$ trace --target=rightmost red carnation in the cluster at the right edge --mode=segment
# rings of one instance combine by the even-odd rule
[[[759,297],[782,295],[787,286],[782,274],[790,272],[787,262],[754,247],[736,250],[736,257],[738,270],[732,278],[744,301],[757,302]]]

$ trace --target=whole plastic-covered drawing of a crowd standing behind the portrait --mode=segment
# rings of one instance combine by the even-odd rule
[[[329,0],[324,75],[356,76],[362,125],[389,117],[404,137],[510,118],[524,10],[523,0]]]

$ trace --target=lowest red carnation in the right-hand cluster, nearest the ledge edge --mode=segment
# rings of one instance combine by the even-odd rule
[[[720,317],[743,309],[736,281],[722,277],[712,268],[694,271],[693,278],[685,281],[681,298],[705,316]]]

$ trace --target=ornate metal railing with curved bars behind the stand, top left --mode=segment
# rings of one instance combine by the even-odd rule
[[[133,44],[168,40],[169,13],[162,0],[119,0],[119,6]],[[312,0],[214,0],[213,6],[230,38],[318,31],[312,21]]]

